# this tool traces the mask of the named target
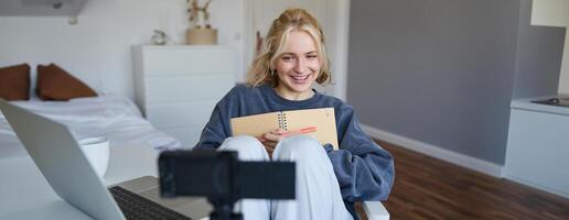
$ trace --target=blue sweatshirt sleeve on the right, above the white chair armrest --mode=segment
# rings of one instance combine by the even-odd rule
[[[329,152],[342,197],[351,202],[385,200],[394,182],[393,157],[364,133],[352,107],[342,109],[336,117],[340,150]]]

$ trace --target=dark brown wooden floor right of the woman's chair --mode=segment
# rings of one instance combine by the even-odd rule
[[[569,220],[569,199],[378,143],[395,157],[391,219]]]

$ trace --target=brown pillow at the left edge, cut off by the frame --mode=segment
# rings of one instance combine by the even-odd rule
[[[30,99],[30,65],[0,68],[0,98],[8,101]]]

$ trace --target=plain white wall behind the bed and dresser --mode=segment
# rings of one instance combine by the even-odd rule
[[[89,0],[75,25],[68,18],[0,16],[0,67],[29,63],[34,76],[37,64],[53,62],[97,90],[132,98],[131,45],[149,43],[155,29],[183,43],[185,2]],[[237,48],[244,72],[244,1],[213,0],[210,8],[218,43]]]

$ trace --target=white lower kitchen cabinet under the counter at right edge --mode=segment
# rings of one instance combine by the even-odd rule
[[[569,198],[569,108],[512,102],[506,178]]]

